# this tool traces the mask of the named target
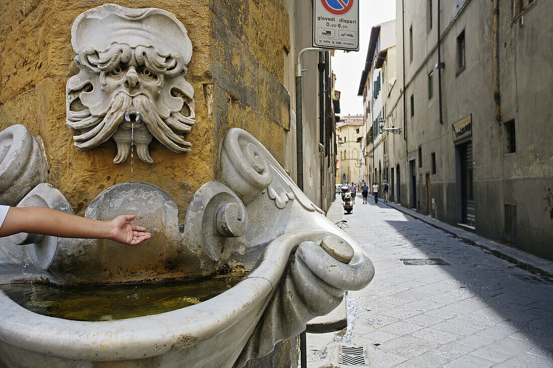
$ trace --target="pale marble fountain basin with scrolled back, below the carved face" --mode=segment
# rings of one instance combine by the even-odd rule
[[[120,320],[46,317],[0,292],[0,362],[31,366],[243,367],[295,338],[309,320],[365,287],[374,267],[251,134],[230,129],[220,182],[192,196],[184,224],[175,201],[142,182],[115,184],[85,217],[135,213],[154,236],[139,246],[18,234],[0,239],[0,282],[59,286],[171,281],[243,267],[234,287],[189,307]],[[46,183],[18,206],[72,212]]]

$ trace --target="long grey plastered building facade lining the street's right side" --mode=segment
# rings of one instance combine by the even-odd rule
[[[386,112],[386,124],[401,128],[388,135],[394,200],[553,259],[553,3],[396,8]]]

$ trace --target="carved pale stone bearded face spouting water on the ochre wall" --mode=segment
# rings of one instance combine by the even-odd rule
[[[80,71],[67,81],[66,126],[79,131],[77,148],[113,138],[116,164],[132,146],[153,163],[152,137],[173,152],[190,151],[182,134],[196,123],[194,89],[185,80],[192,44],[173,14],[106,4],[75,19],[71,45]]]

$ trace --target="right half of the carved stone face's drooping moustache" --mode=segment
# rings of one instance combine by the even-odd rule
[[[186,142],[182,136],[176,132],[190,131],[190,126],[181,123],[174,117],[174,114],[168,117],[160,116],[154,103],[144,95],[138,95],[133,98],[133,106],[140,112],[140,120],[145,123],[148,130],[158,141],[173,152],[182,153],[190,151],[190,142]],[[180,115],[180,114],[179,114]]]

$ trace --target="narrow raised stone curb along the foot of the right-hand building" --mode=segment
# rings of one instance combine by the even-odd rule
[[[384,203],[384,201],[382,201]],[[417,220],[425,222],[426,224],[436,227],[436,229],[443,230],[450,235],[457,237],[465,241],[470,245],[480,247],[488,252],[491,252],[494,256],[502,258],[505,261],[513,263],[515,266],[525,269],[534,274],[540,276],[547,276],[553,278],[553,262],[544,260],[538,256],[531,255],[516,248],[509,247],[507,245],[500,244],[493,240],[486,239],[485,237],[474,234],[473,232],[463,230],[459,227],[446,224],[445,222],[433,219],[430,216],[422,215],[419,212],[407,209],[396,203],[385,202],[385,205],[392,207],[406,215],[414,217]]]

